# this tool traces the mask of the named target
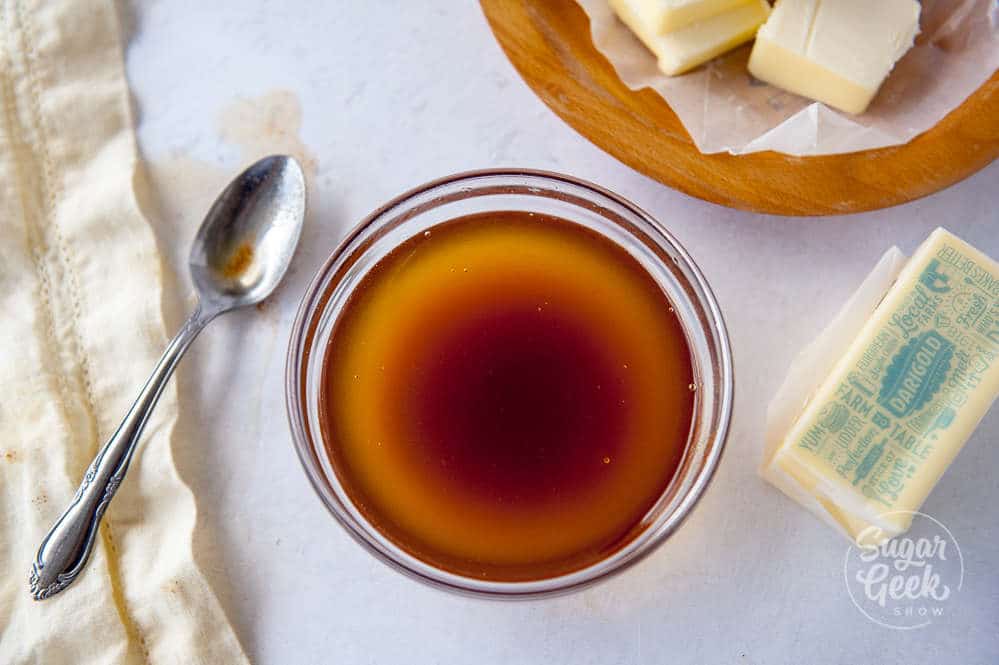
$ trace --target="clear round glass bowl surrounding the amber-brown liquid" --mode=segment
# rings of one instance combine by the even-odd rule
[[[432,566],[372,526],[344,491],[321,440],[318,400],[333,325],[365,274],[406,239],[465,215],[518,210],[584,225],[625,248],[672,301],[687,336],[696,381],[690,438],[670,485],[644,528],[607,558],[580,570],[525,582],[484,581]],[[309,286],[292,329],[286,369],[288,417],[298,456],[319,498],[376,557],[432,586],[491,598],[535,598],[577,590],[652,552],[690,514],[725,445],[732,412],[732,357],[718,304],[694,261],[656,220],[596,185],[557,173],[460,173],[399,196],[369,215],[330,255]]]

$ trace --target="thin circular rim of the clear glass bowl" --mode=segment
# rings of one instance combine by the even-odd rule
[[[658,526],[659,532],[656,533],[654,537],[639,543],[636,546],[637,549],[628,551],[629,546],[639,542],[640,538],[635,538],[635,540],[629,542],[610,556],[591,563],[584,568],[571,571],[563,575],[524,582],[491,582],[490,584],[497,587],[496,589],[482,589],[472,587],[468,584],[463,584],[463,582],[473,581],[481,583],[479,580],[473,580],[465,575],[452,573],[446,569],[438,568],[432,564],[422,562],[426,567],[438,574],[437,576],[430,576],[414,569],[410,565],[407,565],[406,561],[400,560],[396,556],[393,556],[393,553],[383,551],[376,545],[375,542],[372,542],[369,534],[365,532],[365,530],[377,532],[378,529],[374,525],[370,524],[367,520],[364,520],[361,525],[355,525],[355,519],[343,508],[341,508],[339,500],[335,497],[331,498],[330,496],[327,496],[327,492],[329,490],[327,487],[327,478],[322,469],[316,468],[311,459],[312,446],[308,441],[309,436],[306,434],[306,428],[304,426],[304,420],[305,417],[307,417],[307,414],[305,414],[305,399],[299,393],[301,392],[301,378],[306,369],[307,362],[304,352],[306,351],[306,345],[312,336],[310,331],[315,327],[313,325],[314,322],[317,322],[318,317],[321,316],[325,309],[320,305],[322,304],[323,296],[328,291],[330,285],[326,284],[324,286],[324,283],[327,281],[331,270],[337,264],[338,260],[350,244],[372,224],[382,220],[385,213],[393,208],[405,204],[407,201],[419,197],[422,194],[440,187],[454,186],[464,181],[503,177],[528,177],[548,181],[549,184],[564,183],[582,190],[588,190],[592,194],[604,197],[612,203],[623,207],[630,214],[638,217],[642,222],[648,224],[656,233],[658,233],[662,239],[666,241],[670,248],[676,252],[680,261],[683,262],[684,267],[689,271],[693,278],[691,280],[691,285],[695,287],[694,299],[699,302],[700,306],[704,308],[705,314],[709,317],[709,320],[706,321],[701,328],[704,330],[705,334],[712,337],[714,342],[717,344],[719,359],[719,367],[717,369],[720,377],[720,392],[718,396],[719,404],[717,408],[717,427],[713,429],[712,434],[709,437],[711,449],[708,452],[702,467],[696,472],[693,484],[680,499],[674,513],[675,518],[671,522],[664,525],[657,525],[655,523],[650,524],[646,529],[646,531],[653,531]],[[489,195],[492,194],[487,194],[487,196]],[[387,221],[391,220],[382,220],[383,223]],[[616,224],[616,222],[612,223]],[[632,234],[630,231],[628,231],[628,233]],[[711,334],[709,334],[709,328]],[[708,285],[707,280],[704,278],[704,275],[701,273],[700,268],[694,262],[687,250],[660,222],[628,199],[625,199],[619,194],[587,180],[563,173],[540,169],[488,168],[461,171],[430,180],[413,187],[391,198],[389,201],[366,215],[357,225],[346,233],[339,243],[337,243],[334,249],[330,252],[330,255],[317,269],[315,275],[309,283],[309,286],[306,288],[296,312],[295,320],[292,324],[285,364],[285,406],[287,409],[288,422],[291,429],[292,441],[295,446],[295,452],[298,455],[299,462],[301,463],[305,475],[309,480],[309,484],[312,485],[316,495],[334,517],[335,521],[351,536],[353,540],[359,543],[377,560],[403,573],[407,577],[416,579],[420,582],[428,584],[431,587],[454,592],[460,595],[492,599],[536,599],[564,595],[578,591],[631,568],[652,554],[652,552],[656,551],[659,546],[662,545],[662,543],[665,542],[684,521],[686,521],[690,513],[693,511],[694,506],[703,496],[705,490],[714,477],[715,471],[717,470],[718,464],[721,460],[722,453],[726,447],[728,431],[732,420],[734,383],[731,343],[724,317],[722,316],[721,309],[715,295],[712,292],[711,287]],[[358,526],[362,528],[358,528]],[[613,565],[608,568],[608,562],[613,560],[621,552],[625,552],[627,556],[614,561]],[[406,552],[406,554],[412,559],[420,561],[415,555],[408,552]],[[604,569],[600,570],[601,567]],[[565,581],[566,578],[574,579],[570,582]],[[539,586],[539,584],[541,586],[547,585],[550,588],[535,589],[535,587]]]

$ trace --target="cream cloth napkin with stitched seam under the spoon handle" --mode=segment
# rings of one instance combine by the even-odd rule
[[[191,554],[173,384],[77,582],[44,602],[45,532],[166,344],[160,256],[109,0],[0,0],[0,663],[245,663]]]

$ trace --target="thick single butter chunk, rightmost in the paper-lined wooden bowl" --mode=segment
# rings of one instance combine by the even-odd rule
[[[915,0],[779,0],[749,58],[753,76],[863,113],[919,33]]]

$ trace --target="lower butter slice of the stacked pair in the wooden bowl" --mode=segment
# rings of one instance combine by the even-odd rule
[[[610,0],[617,15],[659,59],[659,69],[675,76],[749,41],[770,14],[766,0],[743,1],[711,18],[666,35],[655,32],[638,13],[638,0]]]

